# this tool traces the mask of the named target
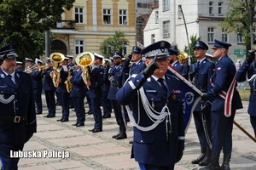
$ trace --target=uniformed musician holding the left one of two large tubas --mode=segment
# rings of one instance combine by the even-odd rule
[[[61,108],[62,108],[62,116],[61,119],[57,120],[58,122],[68,122],[69,117],[69,105],[68,105],[68,99],[69,94],[67,93],[66,84],[64,83],[67,80],[68,77],[68,68],[67,68],[67,61],[68,58],[66,57],[63,61],[60,63],[60,79],[57,80],[59,83],[58,88],[56,88],[56,92],[59,94],[59,98],[61,100]]]

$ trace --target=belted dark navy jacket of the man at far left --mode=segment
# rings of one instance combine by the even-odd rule
[[[24,144],[27,133],[37,132],[32,78],[25,72],[16,71],[14,84],[0,69],[0,95],[1,100],[15,95],[15,99],[7,104],[0,101],[0,115],[27,116],[22,122],[0,119],[0,143]]]

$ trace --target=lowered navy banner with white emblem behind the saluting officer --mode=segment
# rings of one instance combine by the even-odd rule
[[[201,91],[186,80],[180,73],[178,73],[172,65],[168,66],[167,74],[177,77],[182,81],[182,94],[183,94],[183,115],[185,133],[189,128],[191,116],[195,110],[195,106],[201,101]]]

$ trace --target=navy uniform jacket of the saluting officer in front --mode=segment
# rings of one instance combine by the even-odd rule
[[[141,81],[145,81],[142,74],[131,76],[124,87],[119,89],[116,99],[121,105],[131,105],[135,121],[138,122],[139,119],[140,126],[148,127],[153,122],[148,118],[141,99],[139,102],[137,101],[137,86]],[[144,82],[143,89],[149,104],[154,107],[155,111],[161,111],[167,102],[172,117],[172,133],[168,134],[167,140],[166,120],[148,132],[133,127],[133,153],[138,162],[170,167],[177,160],[177,150],[184,149],[184,140],[178,139],[178,137],[184,137],[183,103],[181,82],[176,77],[166,75],[166,83],[167,95],[153,77],[149,77]]]

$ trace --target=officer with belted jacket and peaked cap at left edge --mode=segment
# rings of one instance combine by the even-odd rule
[[[2,169],[17,170],[19,158],[11,151],[22,151],[37,131],[32,79],[15,71],[15,45],[0,48],[0,160]]]

